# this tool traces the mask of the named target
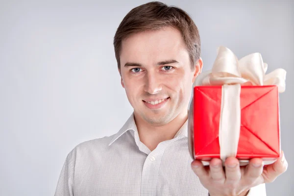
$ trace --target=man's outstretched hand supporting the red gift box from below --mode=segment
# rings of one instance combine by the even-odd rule
[[[284,152],[271,165],[262,165],[262,159],[253,158],[247,166],[239,165],[238,159],[229,157],[223,170],[221,159],[214,158],[209,166],[195,160],[191,164],[202,185],[210,196],[246,196],[250,188],[262,183],[273,182],[280,174],[286,172],[288,163]]]

